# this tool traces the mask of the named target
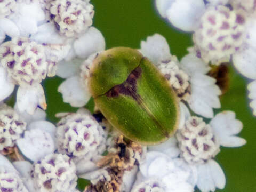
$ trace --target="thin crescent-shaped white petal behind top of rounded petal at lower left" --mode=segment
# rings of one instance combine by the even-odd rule
[[[56,132],[56,127],[54,124],[47,122],[47,121],[34,121],[30,123],[27,127],[28,130],[32,129],[40,129],[43,130],[47,133],[49,133],[52,137],[52,139],[55,141],[55,132]]]

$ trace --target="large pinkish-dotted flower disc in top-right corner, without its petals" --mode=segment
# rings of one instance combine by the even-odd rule
[[[230,11],[223,5],[207,7],[193,36],[201,58],[214,65],[229,61],[245,38],[245,20],[242,11]]]

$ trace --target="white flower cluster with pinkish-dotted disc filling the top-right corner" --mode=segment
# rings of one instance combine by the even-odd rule
[[[239,73],[253,80],[247,88],[256,115],[254,0],[156,0],[156,7],[174,27],[193,32],[198,58],[212,65],[231,61]]]

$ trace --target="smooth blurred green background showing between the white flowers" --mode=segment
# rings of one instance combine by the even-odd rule
[[[139,48],[140,41],[155,33],[163,35],[171,53],[180,59],[192,45],[191,35],[175,30],[157,13],[154,1],[150,0],[91,0],[95,15],[93,26],[97,27],[106,39],[106,48],[128,46]],[[256,117],[252,116],[247,99],[247,79],[230,67],[230,89],[221,97],[221,110],[235,111],[244,124],[240,134],[247,140],[241,148],[221,148],[217,162],[226,174],[225,189],[217,191],[253,192],[256,191]],[[47,98],[47,118],[57,122],[55,113],[76,111],[76,108],[63,103],[57,88],[63,79],[54,77],[44,82]],[[92,104],[92,102],[90,102]],[[90,106],[90,104],[89,104]],[[219,110],[218,110],[219,111]],[[218,112],[216,111],[216,112]],[[84,186],[79,180],[79,186]]]

